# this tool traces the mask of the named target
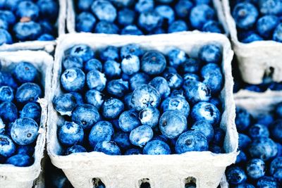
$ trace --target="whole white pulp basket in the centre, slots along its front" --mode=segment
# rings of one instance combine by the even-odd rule
[[[73,153],[62,156],[62,146],[57,139],[57,125],[63,123],[51,102],[60,94],[61,61],[64,51],[75,44],[87,44],[97,50],[105,46],[124,46],[140,44],[144,49],[156,49],[166,54],[168,47],[176,46],[191,57],[197,56],[200,46],[217,42],[223,46],[223,70],[225,84],[220,94],[223,115],[220,126],[226,130],[224,148],[226,153],[210,151],[188,152],[183,154],[149,156],[108,156],[104,153]],[[183,32],[169,35],[118,36],[90,33],[68,34],[59,38],[55,53],[54,77],[49,98],[49,118],[47,126],[47,151],[51,162],[63,172],[74,187],[95,187],[102,180],[108,188],[140,187],[148,182],[152,188],[185,187],[185,183],[196,182],[197,187],[217,187],[226,166],[235,162],[238,148],[238,133],[235,128],[235,104],[233,101],[233,78],[231,60],[233,51],[224,35]]]

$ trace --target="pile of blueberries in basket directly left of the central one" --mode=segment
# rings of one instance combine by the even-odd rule
[[[0,72],[0,164],[32,165],[43,95],[39,72],[27,62]]]

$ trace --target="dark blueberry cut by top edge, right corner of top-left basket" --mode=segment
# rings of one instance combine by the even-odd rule
[[[59,13],[59,4],[54,0],[39,0],[37,1],[40,15],[44,18],[56,20]]]

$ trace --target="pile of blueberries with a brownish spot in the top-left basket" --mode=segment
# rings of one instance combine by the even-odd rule
[[[58,13],[56,0],[1,0],[0,45],[54,40]]]

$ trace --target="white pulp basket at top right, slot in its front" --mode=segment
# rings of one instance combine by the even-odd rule
[[[282,81],[282,43],[258,41],[244,44],[238,41],[235,20],[231,15],[229,0],[222,0],[233,50],[238,59],[240,73],[245,82],[261,84],[264,75],[271,74],[275,82]]]

